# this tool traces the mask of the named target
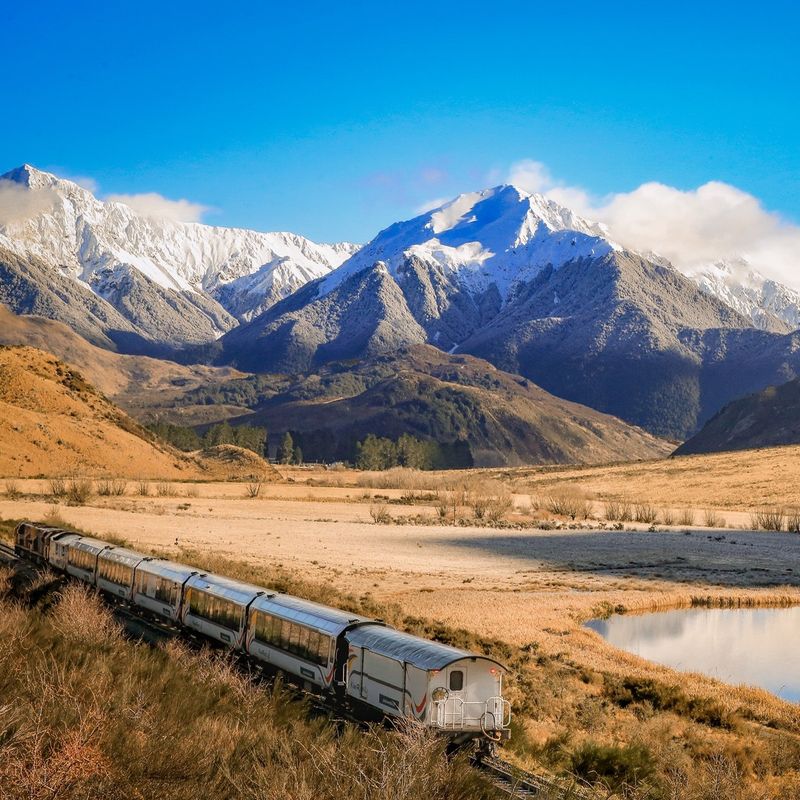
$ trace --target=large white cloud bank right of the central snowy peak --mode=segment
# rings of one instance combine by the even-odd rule
[[[604,223],[620,244],[652,250],[685,272],[741,257],[767,277],[800,288],[800,226],[728,183],[684,190],[651,182],[597,197],[553,178],[533,160],[513,164],[507,180]]]

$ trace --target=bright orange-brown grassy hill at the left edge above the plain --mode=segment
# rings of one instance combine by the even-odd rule
[[[0,347],[0,475],[70,474],[199,479],[275,472],[254,454],[179,453],[51,354]]]

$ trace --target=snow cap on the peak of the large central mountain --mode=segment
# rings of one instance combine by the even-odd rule
[[[619,249],[606,230],[539,194],[497,186],[459,195],[381,231],[320,284],[328,294],[377,261],[397,276],[411,257],[435,265],[472,292],[494,284],[502,299],[548,264],[555,267]]]

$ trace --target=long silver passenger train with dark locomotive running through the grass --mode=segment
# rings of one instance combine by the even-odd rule
[[[410,718],[454,746],[491,747],[510,736],[507,669],[486,656],[34,522],[17,526],[15,551],[278,670],[363,718]]]

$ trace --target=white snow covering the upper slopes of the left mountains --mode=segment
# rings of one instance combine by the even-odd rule
[[[291,233],[258,233],[144,216],[29,165],[0,180],[48,198],[45,210],[0,227],[0,245],[33,254],[100,296],[120,268],[136,269],[158,286],[207,293],[248,319],[308,280],[319,278],[357,247],[316,244]]]

